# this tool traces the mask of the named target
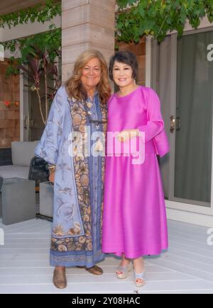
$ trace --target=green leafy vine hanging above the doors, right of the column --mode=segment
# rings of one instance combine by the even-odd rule
[[[213,21],[212,0],[117,0],[116,41],[139,42],[143,35],[152,35],[159,42],[168,31],[183,33],[185,21],[192,28],[207,15]]]

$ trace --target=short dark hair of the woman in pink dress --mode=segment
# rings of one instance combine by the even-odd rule
[[[131,66],[133,73],[132,78],[136,79],[137,72],[138,72],[138,62],[136,55],[134,55],[132,52],[116,52],[114,56],[111,57],[109,62],[109,78],[113,81],[113,74],[112,70],[114,67],[114,62],[120,62],[124,64],[128,64]]]

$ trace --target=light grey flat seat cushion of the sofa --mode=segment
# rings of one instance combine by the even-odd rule
[[[26,166],[0,166],[2,178],[26,178],[28,179],[29,167]]]

